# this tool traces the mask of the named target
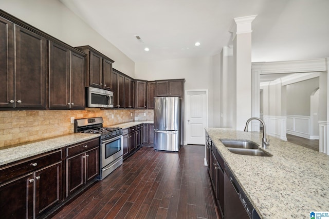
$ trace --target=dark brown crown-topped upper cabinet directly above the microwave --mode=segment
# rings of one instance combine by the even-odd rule
[[[112,64],[114,61],[90,46],[76,47],[87,54],[86,86],[106,90],[112,88]]]

